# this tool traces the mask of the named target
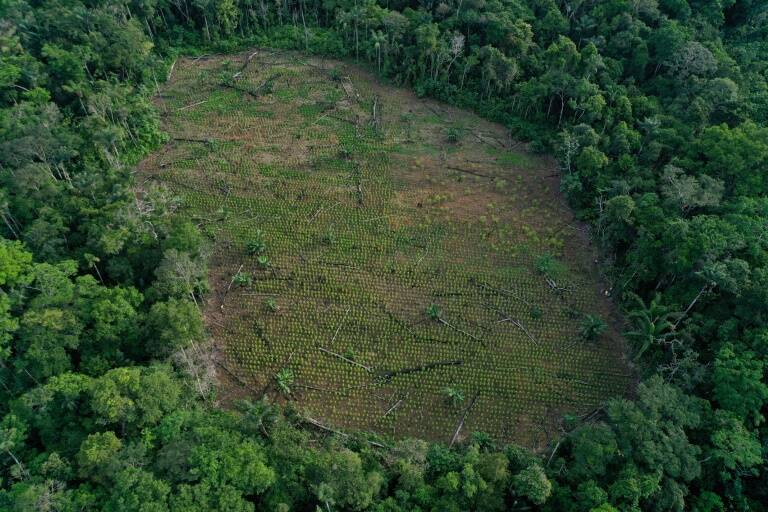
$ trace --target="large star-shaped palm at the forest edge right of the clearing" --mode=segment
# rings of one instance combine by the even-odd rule
[[[635,354],[635,360],[637,360],[651,345],[659,345],[677,335],[674,321],[681,313],[669,311],[669,308],[661,303],[660,293],[657,293],[647,305],[635,294],[631,294],[631,300],[637,308],[627,315],[633,328],[624,335],[639,347]]]

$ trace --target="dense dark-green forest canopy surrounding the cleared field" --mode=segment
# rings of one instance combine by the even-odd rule
[[[765,510],[768,5],[0,0],[3,510]],[[548,453],[211,407],[206,240],[131,165],[176,55],[347,57],[557,155],[643,374]]]

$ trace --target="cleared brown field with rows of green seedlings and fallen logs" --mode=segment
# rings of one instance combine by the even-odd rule
[[[213,241],[225,399],[447,442],[465,418],[458,438],[537,446],[629,391],[553,163],[503,127],[267,50],[182,59],[158,103],[173,140],[140,172]],[[586,315],[608,322],[597,340]]]

